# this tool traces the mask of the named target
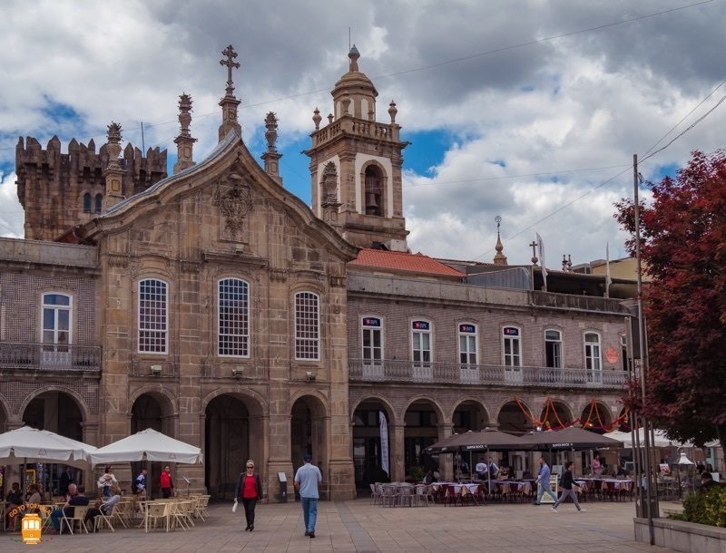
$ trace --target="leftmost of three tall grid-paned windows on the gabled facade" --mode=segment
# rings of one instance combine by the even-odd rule
[[[168,285],[158,278],[140,280],[139,353],[165,354],[168,330]]]

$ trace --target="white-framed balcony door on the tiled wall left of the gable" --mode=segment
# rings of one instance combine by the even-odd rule
[[[49,292],[43,295],[42,363],[71,364],[71,296]]]

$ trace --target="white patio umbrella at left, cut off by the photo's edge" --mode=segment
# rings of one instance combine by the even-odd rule
[[[30,426],[0,434],[0,465],[63,462],[85,468],[95,450],[93,445]]]

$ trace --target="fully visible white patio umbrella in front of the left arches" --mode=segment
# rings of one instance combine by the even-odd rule
[[[162,461],[194,464],[201,462],[201,449],[147,428],[127,438],[114,441],[91,453],[96,464],[123,461]]]

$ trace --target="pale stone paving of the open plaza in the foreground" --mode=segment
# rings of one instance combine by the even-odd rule
[[[668,504],[662,504],[668,508]],[[299,503],[260,504],[254,532],[244,531],[244,514],[231,503],[213,504],[211,517],[194,529],[142,529],[115,533],[44,536],[37,546],[19,534],[0,536],[0,551],[668,551],[633,541],[635,504],[571,503],[550,506],[493,504],[483,507],[381,508],[369,500],[319,503],[316,538],[303,536]]]

